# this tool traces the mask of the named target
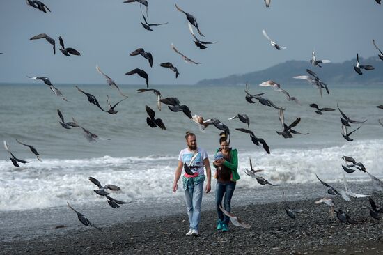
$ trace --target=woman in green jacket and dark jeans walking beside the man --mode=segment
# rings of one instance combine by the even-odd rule
[[[238,168],[238,152],[237,149],[230,148],[226,141],[226,134],[221,133],[219,138],[220,148],[217,149],[214,155],[213,165],[216,167],[214,178],[217,179],[215,188],[215,202],[217,206],[218,222],[217,230],[228,232],[228,222],[230,218],[219,209],[219,206],[224,199],[224,209],[231,211],[231,197],[235,190],[236,181],[240,179],[237,172]]]

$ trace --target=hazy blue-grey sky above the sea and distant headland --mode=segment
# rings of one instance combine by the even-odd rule
[[[169,22],[143,29],[139,3],[123,0],[42,0],[52,13],[27,6],[24,0],[0,0],[0,83],[36,83],[29,76],[47,76],[53,84],[104,84],[97,72],[116,84],[144,84],[138,75],[126,76],[134,68],[145,70],[149,84],[195,84],[233,74],[264,70],[289,60],[309,60],[315,49],[318,59],[341,63],[383,50],[383,5],[375,0],[148,0],[148,22]],[[205,38],[218,41],[198,49],[189,33],[186,16],[196,17]],[[263,36],[288,49],[278,51]],[[29,38],[47,33],[52,45]],[[81,56],[67,57],[58,51],[58,36],[65,47]],[[171,43],[200,65],[185,63]],[[153,54],[153,68],[141,56],[130,56],[137,48]],[[171,62],[180,76],[160,63]]]

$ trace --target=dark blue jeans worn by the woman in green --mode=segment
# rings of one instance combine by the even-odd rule
[[[222,199],[225,196],[223,208],[228,212],[231,212],[231,197],[233,196],[236,183],[218,183],[215,186],[215,203],[217,206],[218,218],[221,219],[224,223],[228,224],[230,217],[224,215],[224,212],[219,209],[219,206],[222,204]]]

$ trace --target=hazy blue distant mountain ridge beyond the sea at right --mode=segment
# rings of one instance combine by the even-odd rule
[[[366,71],[362,69],[363,75],[358,75],[352,65],[357,59],[345,61],[343,63],[327,63],[322,68],[313,67],[309,61],[286,61],[274,65],[265,70],[249,72],[244,75],[230,75],[219,79],[203,79],[196,84],[201,85],[233,85],[260,84],[269,79],[280,84],[302,84],[305,81],[293,79],[298,75],[308,75],[306,69],[313,70],[323,82],[327,84],[382,84],[383,85],[383,61],[378,56],[368,59],[359,58],[361,65],[373,65],[375,70]]]

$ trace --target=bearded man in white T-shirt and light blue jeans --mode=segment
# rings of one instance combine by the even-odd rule
[[[203,181],[206,183],[205,192],[211,190],[210,178],[211,169],[208,153],[203,148],[197,147],[196,135],[187,132],[185,135],[187,148],[181,150],[178,156],[178,167],[175,170],[173,192],[177,192],[178,180],[180,179],[184,163],[189,166],[193,174],[185,172],[182,176],[182,187],[185,190],[185,201],[187,206],[187,215],[189,217],[189,232],[186,235],[198,236],[198,225],[201,222],[201,202],[203,194]],[[203,171],[206,168],[206,176]]]

